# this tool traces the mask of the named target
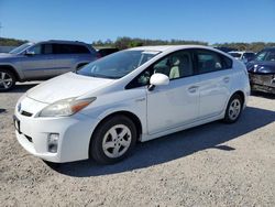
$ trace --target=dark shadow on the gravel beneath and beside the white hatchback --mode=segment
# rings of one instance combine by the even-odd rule
[[[94,161],[87,160],[64,163],[53,168],[61,174],[76,177],[100,176],[158,165],[206,149],[222,150],[230,153],[235,149],[228,146],[224,142],[241,139],[241,135],[274,121],[274,111],[248,107],[234,124],[216,121],[139,143],[130,157],[113,165],[98,165]]]

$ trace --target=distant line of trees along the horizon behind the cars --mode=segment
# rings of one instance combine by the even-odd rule
[[[19,46],[23,43],[26,43],[25,40],[15,40],[15,39],[6,39],[0,37],[0,46]],[[132,39],[128,36],[118,37],[116,41],[94,41],[92,46],[96,47],[117,47],[119,50],[124,50],[135,46],[146,46],[146,45],[183,45],[183,44],[199,44],[199,45],[209,45],[208,42],[201,41],[185,41],[185,40],[151,40],[151,39]],[[275,46],[275,42],[253,42],[253,43],[216,43],[210,46],[218,47],[231,47],[238,51],[253,51],[258,52],[267,46]]]

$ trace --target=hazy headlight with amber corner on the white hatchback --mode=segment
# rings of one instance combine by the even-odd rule
[[[58,100],[40,112],[38,117],[67,117],[72,116],[82,108],[87,107],[89,103],[95,101],[97,98],[87,98],[87,99],[76,99],[76,98],[67,98],[63,100]]]

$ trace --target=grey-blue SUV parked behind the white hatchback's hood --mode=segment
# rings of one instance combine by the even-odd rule
[[[94,47],[82,42],[45,41],[25,43],[9,54],[0,54],[0,91],[16,81],[58,76],[97,59]]]

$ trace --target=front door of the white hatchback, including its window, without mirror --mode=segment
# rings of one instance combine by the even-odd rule
[[[194,76],[193,54],[173,53],[152,66],[153,73],[169,76],[167,86],[147,91],[147,129],[150,134],[182,127],[198,118],[199,78]]]

